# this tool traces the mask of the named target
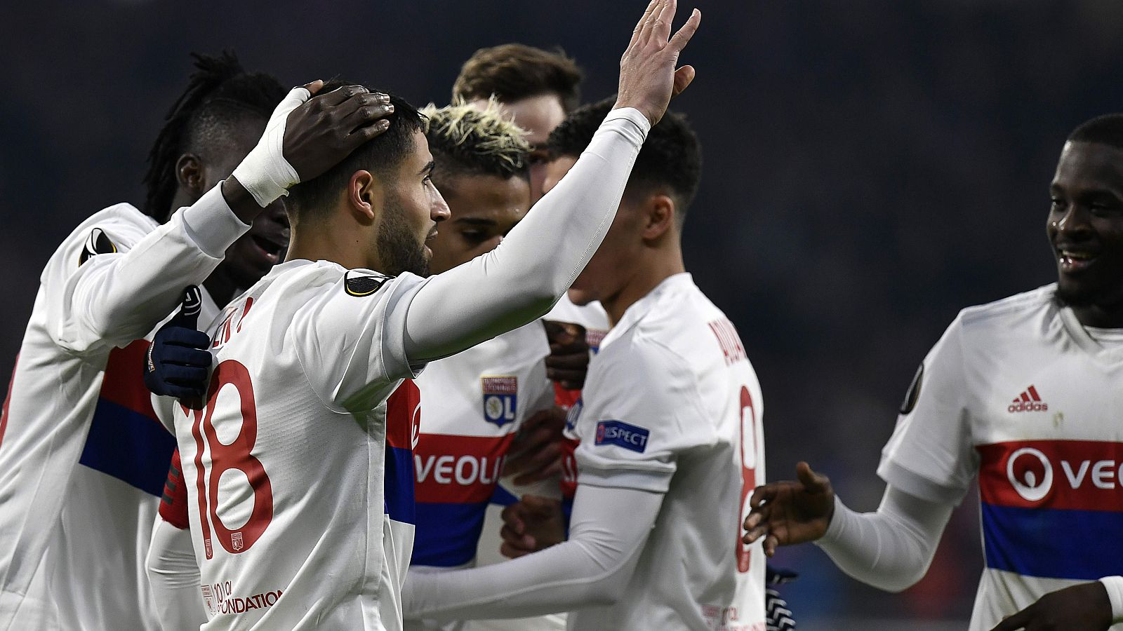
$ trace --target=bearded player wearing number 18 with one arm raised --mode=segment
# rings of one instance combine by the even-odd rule
[[[565,182],[489,254],[423,277],[426,240],[448,211],[421,118],[400,99],[383,136],[292,188],[289,259],[212,327],[203,409],[175,411],[213,613],[204,629],[401,627],[413,504],[385,490],[412,479],[418,418],[387,395],[426,363],[541,317],[584,267],[647,131],[694,76],[675,63],[700,17],[670,37],[674,6],[648,6],[621,60],[617,108]],[[250,156],[276,146],[279,127]]]

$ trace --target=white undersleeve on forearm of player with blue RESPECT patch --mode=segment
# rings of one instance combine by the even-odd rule
[[[661,505],[661,493],[582,486],[568,541],[480,568],[411,570],[402,592],[404,616],[524,618],[612,604],[623,595]]]

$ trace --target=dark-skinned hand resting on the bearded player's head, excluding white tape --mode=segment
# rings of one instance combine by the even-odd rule
[[[304,88],[316,94],[322,81]],[[289,112],[282,153],[307,182],[339,164],[359,145],[390,128],[386,116],[393,113],[390,97],[367,91],[362,85],[346,85],[319,94]],[[222,181],[222,196],[230,209],[246,223],[253,222],[262,208],[249,191],[230,176]]]

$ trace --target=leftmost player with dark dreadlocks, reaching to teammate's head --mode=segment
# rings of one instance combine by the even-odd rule
[[[0,417],[0,629],[49,628],[54,609],[67,630],[157,628],[143,559],[174,438],[141,384],[144,338],[185,285],[217,312],[281,257],[282,210],[228,204],[213,184],[283,92],[230,55],[199,57],[153,148],[144,212],[93,214],[47,263]],[[334,129],[295,122],[312,143]]]

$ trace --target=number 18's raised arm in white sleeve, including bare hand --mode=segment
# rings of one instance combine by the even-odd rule
[[[405,321],[411,363],[447,357],[544,316],[608,231],[650,126],[694,68],[675,70],[701,13],[670,35],[675,0],[652,0],[620,61],[617,106],[573,170],[493,252],[433,276]]]

